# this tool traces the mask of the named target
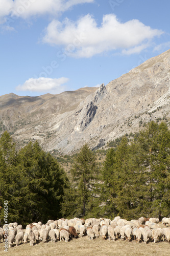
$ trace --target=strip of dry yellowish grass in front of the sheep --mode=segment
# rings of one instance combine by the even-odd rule
[[[5,255],[3,243],[0,244],[0,255]],[[154,244],[144,244],[143,242],[137,244],[135,241],[103,241],[101,238],[95,240],[88,240],[88,237],[79,239],[73,239],[68,243],[64,241],[51,243],[47,242],[43,244],[40,242],[34,246],[30,244],[21,244],[18,247],[13,245],[12,248],[8,249],[8,255],[10,256],[167,256],[169,255],[170,245],[166,242],[160,242]],[[6,254],[7,255],[7,254]]]

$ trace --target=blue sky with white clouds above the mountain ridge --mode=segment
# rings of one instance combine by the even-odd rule
[[[105,85],[170,48],[170,1],[0,0],[0,95]]]

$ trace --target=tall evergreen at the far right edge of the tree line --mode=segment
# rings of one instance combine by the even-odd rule
[[[159,216],[169,209],[170,132],[167,125],[152,121],[140,132],[140,167],[143,169],[146,213]]]

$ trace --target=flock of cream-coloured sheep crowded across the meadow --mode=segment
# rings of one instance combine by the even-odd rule
[[[15,243],[18,246],[20,243],[28,243],[34,245],[39,241],[43,243],[51,240],[64,240],[68,242],[73,237],[83,237],[87,234],[88,239],[102,237],[103,240],[110,241],[120,240],[135,240],[137,243],[143,241],[160,242],[167,241],[170,243],[170,218],[163,218],[162,224],[164,228],[160,228],[159,220],[156,218],[139,218],[138,220],[127,221],[119,216],[114,220],[110,219],[59,219],[56,221],[48,220],[46,224],[41,222],[27,225],[25,232],[22,225],[15,223],[6,224],[0,227],[0,242],[8,243],[8,247],[12,247]]]

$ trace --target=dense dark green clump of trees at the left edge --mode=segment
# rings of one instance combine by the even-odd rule
[[[60,218],[68,179],[57,160],[42,151],[37,141],[16,153],[7,132],[0,145],[0,205],[8,201],[9,222],[28,224]],[[3,222],[3,210],[0,216]]]

